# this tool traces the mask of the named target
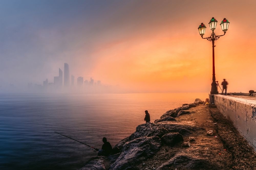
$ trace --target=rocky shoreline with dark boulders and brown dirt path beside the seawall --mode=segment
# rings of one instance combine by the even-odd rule
[[[214,105],[204,104],[196,99],[138,125],[111,155],[93,157],[80,170],[256,169],[252,147]]]

